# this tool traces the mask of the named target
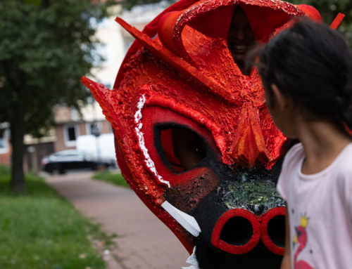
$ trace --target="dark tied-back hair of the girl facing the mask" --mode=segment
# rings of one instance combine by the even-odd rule
[[[315,22],[297,22],[260,48],[259,72],[310,119],[352,129],[352,54],[341,35]]]

